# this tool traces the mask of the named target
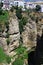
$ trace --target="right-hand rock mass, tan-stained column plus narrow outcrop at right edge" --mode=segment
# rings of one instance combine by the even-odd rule
[[[43,30],[43,20],[35,21],[28,19],[28,23],[24,26],[24,32],[22,33],[23,45],[26,47],[34,47],[37,43],[37,35],[41,36]]]

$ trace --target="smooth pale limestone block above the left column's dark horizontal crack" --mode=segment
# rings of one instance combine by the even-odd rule
[[[11,18],[9,24],[9,34],[14,34],[19,32],[19,24],[17,19]]]

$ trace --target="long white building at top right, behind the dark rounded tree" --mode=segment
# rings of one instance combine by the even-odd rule
[[[27,2],[26,4],[26,8],[29,9],[33,9],[36,7],[36,5],[40,5],[41,6],[41,12],[43,12],[43,1],[37,1],[37,2]]]

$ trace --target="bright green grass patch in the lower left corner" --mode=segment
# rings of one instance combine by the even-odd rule
[[[10,63],[11,62],[11,58],[9,56],[7,56],[3,49],[0,47],[0,63],[2,62],[7,62]]]

